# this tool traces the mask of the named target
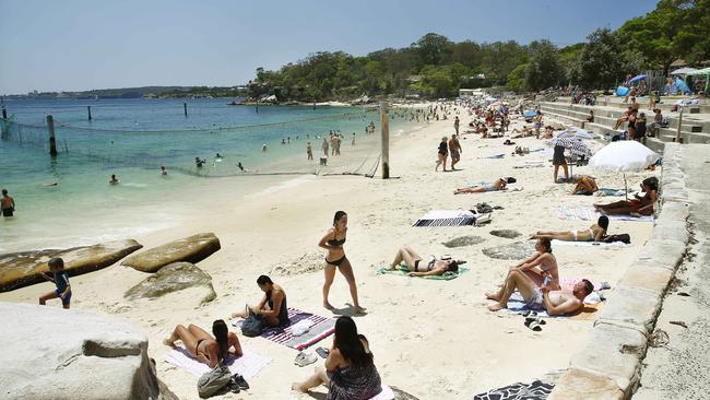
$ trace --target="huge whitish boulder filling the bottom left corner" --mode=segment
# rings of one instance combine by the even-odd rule
[[[0,303],[3,399],[158,399],[147,338],[116,318]]]

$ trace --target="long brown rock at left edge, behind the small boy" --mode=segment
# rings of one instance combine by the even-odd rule
[[[0,292],[46,282],[40,273],[49,272],[47,262],[54,257],[64,260],[70,277],[106,268],[143,245],[135,240],[116,240],[67,250],[37,250],[0,255]]]

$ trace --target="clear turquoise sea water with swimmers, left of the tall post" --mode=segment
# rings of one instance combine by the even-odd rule
[[[0,252],[95,244],[176,226],[190,213],[186,197],[214,191],[215,179],[230,191],[248,191],[255,174],[273,174],[265,179],[283,185],[315,173],[365,174],[377,164],[379,134],[365,134],[370,121],[379,132],[374,107],[259,106],[257,111],[228,106],[224,98],[189,99],[185,117],[184,102],[5,101],[13,123],[0,140],[0,187],[17,210],[0,222]],[[55,158],[48,154],[46,115],[55,120]],[[392,117],[392,134],[418,125],[397,111]],[[345,136],[342,155],[321,167],[322,140],[331,130]],[[306,160],[307,141],[315,161]],[[206,160],[201,168],[197,156]],[[167,176],[159,174],[161,165]],[[111,174],[119,185],[108,185]]]

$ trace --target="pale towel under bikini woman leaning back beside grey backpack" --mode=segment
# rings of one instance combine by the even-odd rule
[[[211,370],[206,364],[192,358],[187,350],[179,346],[170,350],[165,355],[165,362],[182,368],[198,377]],[[229,355],[226,360],[226,365],[229,367],[233,375],[239,374],[244,376],[245,379],[249,380],[271,362],[272,358],[261,356],[244,349],[244,354],[240,357]]]

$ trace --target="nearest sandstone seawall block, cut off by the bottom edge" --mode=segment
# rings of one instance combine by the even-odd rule
[[[624,399],[624,390],[606,376],[569,368],[557,380],[547,400],[570,399],[620,400]]]

